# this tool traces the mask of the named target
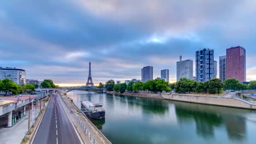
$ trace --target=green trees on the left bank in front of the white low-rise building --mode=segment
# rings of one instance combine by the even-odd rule
[[[54,85],[52,80],[44,80],[42,84],[41,85],[44,88],[59,87]],[[21,93],[33,93],[36,88],[38,88],[38,85],[26,84],[24,86],[20,86],[10,79],[0,80],[0,91],[4,92],[5,96],[8,95],[8,93],[13,95]]]

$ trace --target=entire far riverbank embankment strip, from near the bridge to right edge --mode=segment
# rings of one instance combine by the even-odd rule
[[[209,95],[194,95],[194,94],[149,93],[149,92],[138,92],[138,93],[124,92],[121,94],[120,92],[114,92],[114,91],[106,92],[106,93],[256,110],[256,105],[250,104],[245,100],[241,100],[237,98],[224,98],[224,97],[212,96],[212,95],[209,96]]]

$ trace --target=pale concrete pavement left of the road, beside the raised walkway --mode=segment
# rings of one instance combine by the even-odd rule
[[[45,106],[48,103],[45,103]],[[43,101],[42,101],[43,108]],[[40,111],[40,104],[35,106],[35,117],[38,116]],[[30,126],[32,123],[32,110],[30,110]],[[28,127],[28,110],[26,110],[26,116],[20,119],[19,122],[13,125],[11,128],[1,128],[0,129],[0,143],[1,144],[20,144],[24,138]]]

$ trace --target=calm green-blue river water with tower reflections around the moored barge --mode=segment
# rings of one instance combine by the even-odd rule
[[[92,123],[113,144],[256,143],[256,111],[72,91],[74,104],[102,103],[106,117]]]

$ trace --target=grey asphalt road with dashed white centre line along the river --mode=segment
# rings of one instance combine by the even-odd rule
[[[32,143],[81,143],[71,120],[61,103],[60,95],[53,94]]]

